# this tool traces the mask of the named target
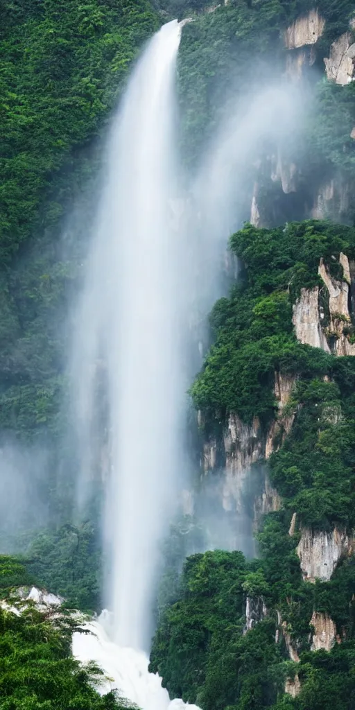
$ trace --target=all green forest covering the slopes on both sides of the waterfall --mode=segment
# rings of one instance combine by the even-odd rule
[[[114,692],[99,696],[99,670],[71,654],[71,635],[82,622],[70,610],[102,609],[104,560],[102,481],[95,481],[97,503],[84,519],[73,512],[77,459],[68,436],[67,376],[68,312],[82,285],[105,139],[129,73],[163,23],[192,19],[178,56],[178,129],[184,168],[193,176],[233,102],[271,80],[285,81],[290,50],[283,33],[313,9],[325,27],[302,77],[308,110],[302,130],[282,146],[285,160],[297,164],[297,190],[286,195],[271,179],[270,155],[278,146],[261,146],[258,168],[245,166],[240,229],[229,241],[238,278],[212,309],[211,346],[189,391],[192,408],[202,413],[198,448],[223,438],[231,413],[246,425],[258,417],[266,437],[278,413],[275,372],[295,378],[284,412],[293,426],[279,432],[262,462],[280,510],[260,520],[256,559],[237,550],[186,559],[186,530],[198,547],[197,522],[185,518],[172,528],[150,669],[170,697],[202,710],[355,708],[354,557],[343,556],[329,581],[313,583],[303,578],[296,552],[305,528],[315,535],[354,532],[355,359],[302,344],[293,328],[301,290],[315,286],[329,325],[320,259],[339,280],[339,254],[355,261],[355,84],[324,77],[334,40],[346,32],[355,39],[354,2],[3,0],[0,446],[11,442],[24,459],[47,453],[31,471],[43,515],[29,504],[23,519],[13,521],[5,510],[0,520],[0,552],[11,552],[0,556],[0,597],[9,601],[18,586],[35,584],[65,603],[55,622],[31,603],[19,616],[0,603],[1,710],[130,707]],[[256,180],[260,228],[249,223]],[[324,219],[314,219],[312,206],[329,184],[332,204]],[[354,311],[346,337],[354,344]],[[251,488],[259,475],[256,464]],[[249,630],[247,599],[258,610]],[[329,651],[312,650],[315,613],[334,623]],[[290,660],[290,645],[298,662]],[[285,692],[287,683],[297,687],[295,697]]]

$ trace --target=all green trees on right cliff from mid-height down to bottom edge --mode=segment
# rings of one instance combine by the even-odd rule
[[[283,507],[262,522],[260,559],[219,551],[190,557],[160,618],[151,668],[170,692],[203,710],[350,710],[354,703],[354,559],[342,560],[329,582],[311,584],[302,579],[295,547],[302,525],[354,529],[355,361],[300,344],[292,324],[300,289],[315,285],[327,324],[320,257],[342,278],[339,252],[354,258],[354,247],[354,228],[327,222],[275,229],[246,224],[231,237],[241,259],[239,283],[214,307],[214,344],[192,386],[204,415],[203,437],[218,439],[231,412],[246,422],[260,417],[266,431],[277,410],[275,372],[297,376],[283,410],[295,418],[268,461]],[[251,479],[255,475],[251,471]],[[293,513],[298,525],[291,536]],[[246,596],[258,623],[243,633]],[[331,652],[310,650],[314,611],[336,624],[341,643]],[[285,632],[300,656],[297,664]],[[295,674],[301,690],[293,699],[284,688]]]

